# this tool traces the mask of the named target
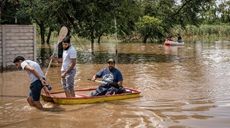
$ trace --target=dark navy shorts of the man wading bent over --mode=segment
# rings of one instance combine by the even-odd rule
[[[42,88],[43,88],[43,85],[42,85],[40,80],[36,80],[30,85],[29,96],[32,97],[33,101],[39,101],[40,100]]]

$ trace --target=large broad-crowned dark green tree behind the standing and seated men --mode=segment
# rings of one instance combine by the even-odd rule
[[[63,21],[68,21],[66,24],[79,37],[89,39],[92,50],[95,39],[100,43],[101,36],[115,33],[114,19],[117,21],[118,35],[124,37],[131,34],[140,8],[133,0],[67,0],[66,3],[57,3],[61,5],[58,13],[63,16]]]

